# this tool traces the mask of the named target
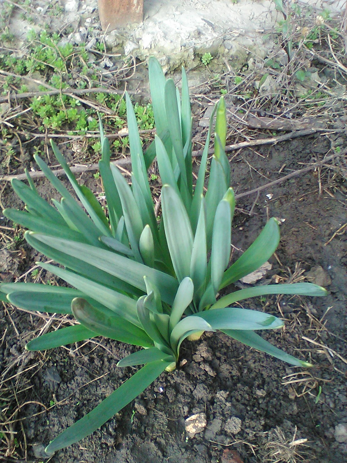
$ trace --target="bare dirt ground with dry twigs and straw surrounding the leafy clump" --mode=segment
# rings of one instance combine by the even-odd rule
[[[329,27],[335,24],[329,23]],[[328,289],[326,298],[273,296],[242,304],[282,317],[285,329],[269,333],[267,338],[289,353],[310,360],[314,367],[291,368],[221,333],[205,334],[198,342],[185,342],[180,369],[161,375],[99,431],[57,452],[49,461],[346,460],[347,62],[342,52],[344,38],[339,34],[332,38],[320,30],[318,38],[312,39],[313,46],[297,55],[293,67],[287,63],[279,69],[266,68],[265,72],[264,67],[254,66],[249,59],[237,72],[226,68],[218,77],[205,67],[205,83],[192,86],[195,150],[201,149],[206,137],[205,111],[221,90],[228,104],[231,183],[239,195],[233,224],[233,258],[247,249],[266,220],[274,216],[282,224],[281,241],[270,260],[272,269],[259,283],[311,281]],[[283,46],[279,39],[279,50],[283,51]],[[3,41],[1,53],[7,56],[12,52],[8,42]],[[107,58],[104,50],[99,50],[99,55],[97,63]],[[148,83],[143,77],[146,69],[142,63],[137,65],[138,69],[127,68],[124,62],[119,64],[116,83],[99,69],[100,87],[123,90],[124,82],[130,82],[131,88],[138,89],[136,99],[147,104]],[[309,69],[310,76],[315,75],[318,86],[313,87],[312,79],[295,78],[302,68]],[[2,69],[9,72],[5,65]],[[77,76],[79,72],[77,69]],[[268,76],[263,84],[267,83],[262,88],[259,81],[265,74]],[[42,72],[41,77],[35,75],[36,80],[44,81],[46,77]],[[297,96],[302,91],[300,86],[304,86],[304,98]],[[11,82],[3,94],[15,92],[20,93],[17,81]],[[112,121],[116,111],[107,113],[107,104],[93,95],[86,92],[82,106],[90,110],[93,104],[93,113],[101,110],[103,118]],[[6,179],[22,174],[25,167],[32,169],[32,154],[38,148],[53,168],[58,167],[48,148],[50,133],[55,134],[68,161],[77,164],[79,181],[102,195],[97,171],[87,169],[98,159],[89,139],[69,134],[65,126],[40,132],[40,119],[31,108],[33,97],[7,97],[6,114],[13,117],[2,117],[7,126],[2,125],[6,132],[2,132],[0,146],[1,208],[22,208]],[[110,124],[109,135],[118,129]],[[144,130],[146,137],[153,135],[152,129]],[[93,137],[97,135],[93,133]],[[8,146],[12,149],[10,157]],[[114,151],[114,159],[126,158],[126,154],[124,145]],[[198,153],[195,162],[199,162]],[[154,179],[153,194],[157,196],[161,184],[160,178],[155,178],[155,164],[150,174]],[[51,197],[46,180],[37,178],[35,183],[44,198]],[[254,193],[250,193],[253,189]],[[1,281],[56,284],[53,275],[35,268],[39,256],[23,241],[23,230],[18,225],[1,217],[0,233]],[[116,367],[131,348],[104,338],[43,353],[24,350],[25,343],[39,333],[69,323],[66,316],[37,316],[9,304],[1,306],[2,461],[42,462],[43,445],[133,373],[130,368]],[[190,438],[185,420],[196,413],[204,413],[207,424]]]

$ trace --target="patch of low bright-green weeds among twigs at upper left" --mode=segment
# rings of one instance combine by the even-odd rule
[[[60,6],[55,3],[50,11],[58,14]],[[4,28],[1,41],[9,40],[8,30]],[[86,88],[89,85],[99,87],[99,76],[95,72],[92,63],[88,63],[89,52],[85,48],[85,44],[78,46],[72,44],[61,44],[62,36],[57,33],[42,31],[37,34],[35,31],[30,31],[25,44],[26,53],[18,56],[16,53],[8,52],[0,54],[0,69],[12,72],[18,77],[6,76],[0,93],[5,95],[9,91],[23,93],[28,90],[26,81],[22,81],[21,76],[31,75],[35,73],[35,78],[41,80],[44,84],[57,90],[65,88]],[[105,44],[97,42],[95,51],[98,54],[105,51]],[[37,77],[37,74],[41,76]],[[77,77],[76,77],[77,76]],[[71,84],[71,82],[74,82]],[[38,91],[47,91],[45,85],[40,85]],[[126,106],[119,94],[108,94],[100,92],[93,95],[87,93],[83,95],[82,100],[96,100],[106,110],[113,112],[112,116],[107,120],[108,125],[112,130],[122,129],[126,126]],[[61,133],[66,131],[68,135],[84,135],[89,132],[98,131],[98,120],[96,111],[93,105],[87,105],[79,98],[74,98],[67,94],[45,94],[35,96],[29,100],[33,123],[37,126],[37,130],[45,132],[49,130],[51,133]],[[151,130],[154,128],[154,114],[150,104],[140,105],[136,103],[135,114],[140,130]],[[17,119],[20,125],[20,118]],[[4,134],[3,138],[4,137]],[[123,137],[121,140],[115,140],[113,147],[124,150],[128,147],[129,139]],[[95,153],[99,153],[101,145],[96,139],[89,139],[89,146]],[[7,159],[12,159],[14,151],[9,145],[6,147]],[[41,150],[36,148],[34,154],[40,154]],[[8,161],[9,163],[9,161]]]

